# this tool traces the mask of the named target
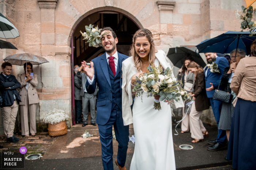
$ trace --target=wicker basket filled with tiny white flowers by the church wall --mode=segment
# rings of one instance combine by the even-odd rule
[[[44,117],[44,122],[48,123],[48,133],[52,137],[65,135],[68,132],[67,124],[65,120],[68,120],[69,116],[65,114],[63,110],[54,108]]]

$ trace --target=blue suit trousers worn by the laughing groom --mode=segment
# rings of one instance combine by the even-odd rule
[[[124,126],[122,112],[117,105],[114,106],[108,122],[105,125],[98,124],[104,170],[113,170],[113,126],[118,142],[117,163],[123,167],[128,149],[129,125]]]

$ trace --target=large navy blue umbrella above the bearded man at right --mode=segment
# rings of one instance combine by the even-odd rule
[[[216,52],[221,54],[230,53],[234,49],[241,48],[249,55],[251,54],[251,44],[255,39],[256,34],[251,32],[228,31],[217,37],[204,40],[196,47],[198,53]]]

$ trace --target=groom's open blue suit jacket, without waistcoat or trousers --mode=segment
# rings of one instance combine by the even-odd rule
[[[120,71],[122,68],[122,62],[127,59],[129,56],[120,54],[118,52],[118,67],[120,67]],[[94,64],[94,80],[93,84],[89,84],[86,82],[86,90],[89,94],[93,94],[96,88],[96,83],[99,87],[98,92],[98,100],[97,100],[97,115],[96,115],[96,123],[100,125],[104,125],[108,122],[111,114],[112,103],[112,91],[111,91],[111,83],[109,78],[108,71],[108,62],[106,59],[106,53],[92,60]],[[122,95],[122,78],[120,74],[120,91]],[[117,100],[122,100],[117,99]]]

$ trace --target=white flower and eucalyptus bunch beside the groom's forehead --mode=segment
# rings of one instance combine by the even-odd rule
[[[101,37],[103,35],[106,35],[106,33],[99,35],[102,29],[99,29],[98,25],[95,28],[93,28],[93,25],[91,24],[89,26],[86,25],[85,30],[86,32],[83,33],[82,31],[80,31],[80,33],[84,37],[83,40],[87,40],[86,43],[89,43],[89,47],[101,47]]]

